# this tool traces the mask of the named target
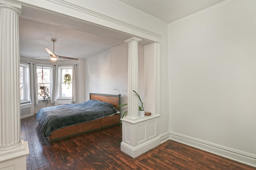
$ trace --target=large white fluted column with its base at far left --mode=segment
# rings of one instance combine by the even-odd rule
[[[20,140],[20,10],[20,4],[0,3],[0,169],[25,170],[29,154]]]

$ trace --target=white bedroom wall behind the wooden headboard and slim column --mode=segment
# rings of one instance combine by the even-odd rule
[[[144,100],[144,47],[138,46],[139,94]],[[86,100],[90,93],[119,94],[121,104],[127,103],[128,43],[122,43],[85,60]]]

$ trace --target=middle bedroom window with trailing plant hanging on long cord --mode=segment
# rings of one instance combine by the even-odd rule
[[[43,76],[42,76],[43,73]],[[49,89],[49,96],[51,94],[51,84],[52,84],[52,68],[49,66],[36,66],[37,74],[37,86],[38,86],[38,100],[43,100],[40,96],[42,90],[39,88],[43,84],[46,88]]]

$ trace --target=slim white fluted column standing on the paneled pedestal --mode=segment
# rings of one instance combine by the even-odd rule
[[[138,42],[139,38],[132,37],[128,43],[128,113],[127,117],[135,119],[139,117],[138,96],[132,91],[138,92]]]

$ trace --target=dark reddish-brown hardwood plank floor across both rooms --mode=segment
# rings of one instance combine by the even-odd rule
[[[28,170],[256,170],[172,140],[132,158],[120,150],[121,125],[48,142],[31,116],[21,119],[21,139],[28,141]]]

